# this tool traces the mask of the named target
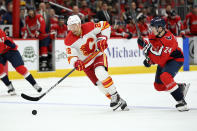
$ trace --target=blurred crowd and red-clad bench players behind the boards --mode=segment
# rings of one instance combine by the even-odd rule
[[[132,2],[130,2],[132,1]],[[197,35],[197,5],[194,0],[31,0],[20,2],[21,38],[64,38],[68,32],[66,21],[77,14],[82,22],[108,21],[112,37],[130,39],[137,36],[135,20],[143,36],[149,33],[150,20],[161,16],[167,28],[176,36]],[[54,2],[72,11],[56,7]],[[182,18],[175,7],[185,6],[187,14]],[[0,24],[12,24],[12,0],[0,0]],[[40,24],[32,26],[32,17]],[[42,33],[42,34],[40,34]]]

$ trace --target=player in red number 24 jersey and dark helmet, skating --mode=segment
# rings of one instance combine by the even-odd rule
[[[144,65],[150,67],[157,64],[154,87],[157,91],[168,91],[177,101],[176,108],[179,111],[188,111],[185,96],[189,84],[176,83],[175,75],[183,65],[184,56],[178,47],[176,37],[166,30],[164,19],[155,17],[151,20],[152,34],[149,35],[149,43],[138,38],[138,45],[143,49],[146,59]]]

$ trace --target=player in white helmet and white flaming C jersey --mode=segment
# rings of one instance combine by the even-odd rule
[[[68,18],[67,26],[70,32],[65,38],[65,45],[69,63],[72,63],[76,70],[84,71],[92,83],[111,99],[110,107],[113,110],[128,110],[126,101],[118,94],[107,71],[108,63],[104,50],[108,47],[107,40],[111,32],[108,22],[81,24],[80,18],[73,15]]]

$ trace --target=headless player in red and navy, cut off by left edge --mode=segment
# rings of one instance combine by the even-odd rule
[[[15,95],[15,89],[12,82],[9,80],[4,66],[7,61],[9,61],[16,71],[23,75],[25,79],[38,91],[41,92],[42,88],[37,84],[33,76],[28,72],[27,68],[24,66],[22,57],[17,50],[17,45],[13,42],[11,38],[6,36],[5,32],[0,29],[0,78],[3,83],[8,87],[8,93]]]

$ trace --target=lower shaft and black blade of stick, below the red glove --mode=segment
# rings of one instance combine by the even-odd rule
[[[76,69],[72,69],[70,72],[68,72],[68,74],[66,74],[62,79],[60,79],[55,85],[53,85],[51,88],[49,88],[46,92],[44,92],[42,95],[38,96],[38,97],[32,97],[32,96],[28,96],[26,94],[21,94],[21,97],[26,99],[26,100],[30,100],[30,101],[39,101],[42,97],[44,97],[49,91],[51,91],[54,87],[56,87],[60,82],[62,82],[66,77],[68,77],[73,71],[75,71]]]

